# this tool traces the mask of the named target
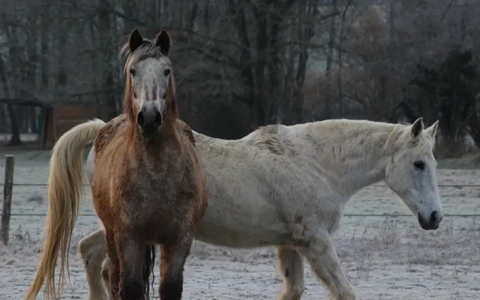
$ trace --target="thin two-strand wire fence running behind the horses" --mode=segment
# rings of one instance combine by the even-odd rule
[[[0,183],[0,186],[4,186],[5,184]],[[48,187],[48,184],[32,184],[32,183],[17,183],[13,184],[13,187]],[[90,187],[90,185],[84,185],[84,187]],[[387,187],[385,184],[376,184],[370,185],[368,187]],[[368,188],[367,187],[367,188]],[[478,185],[458,185],[458,184],[441,184],[438,185],[439,188],[456,188],[456,189],[463,189],[463,188],[480,188],[480,184]],[[1,212],[1,210],[0,210]],[[11,216],[16,217],[45,217],[47,216],[46,213],[11,213]],[[344,214],[346,217],[411,217],[411,214]],[[445,217],[480,217],[480,214],[444,214]],[[93,213],[83,213],[78,214],[78,217],[96,217],[96,214]]]

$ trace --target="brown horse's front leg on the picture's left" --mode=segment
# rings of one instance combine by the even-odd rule
[[[121,230],[115,232],[115,244],[120,265],[119,299],[144,300],[146,298],[143,278],[145,243],[139,241],[135,234]],[[112,261],[110,264],[114,265]]]

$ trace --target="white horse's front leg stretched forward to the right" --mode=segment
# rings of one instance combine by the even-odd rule
[[[356,300],[353,288],[342,270],[330,235],[324,231],[317,232],[307,245],[298,250],[308,259],[312,271],[327,288],[329,298],[331,300]]]

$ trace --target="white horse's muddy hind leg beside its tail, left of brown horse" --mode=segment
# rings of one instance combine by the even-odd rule
[[[105,253],[105,232],[98,229],[80,240],[78,254],[82,258],[88,283],[88,300],[107,300],[101,271]]]

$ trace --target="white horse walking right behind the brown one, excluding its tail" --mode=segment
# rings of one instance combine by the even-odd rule
[[[385,180],[423,229],[437,229],[443,218],[432,153],[437,127],[438,121],[424,129],[422,118],[412,125],[337,119],[261,127],[235,141],[194,132],[209,184],[209,206],[195,239],[236,248],[277,246],[281,300],[301,298],[303,257],[331,299],[355,299],[332,241],[342,210],[356,191]],[[91,300],[106,299],[104,243],[103,229],[79,242]]]

